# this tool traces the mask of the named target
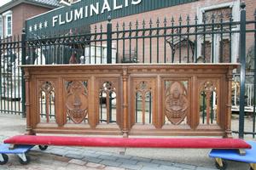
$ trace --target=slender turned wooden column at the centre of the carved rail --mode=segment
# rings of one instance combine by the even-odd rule
[[[123,68],[123,137],[128,138],[128,69]]]

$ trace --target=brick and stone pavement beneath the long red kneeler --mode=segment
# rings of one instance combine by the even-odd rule
[[[0,143],[9,136],[25,133],[26,120],[20,116],[0,114]],[[214,161],[208,158],[209,150],[155,150],[127,149],[125,155],[118,148],[86,148],[49,146],[45,151],[34,147],[29,152],[32,161],[21,166],[16,156],[0,166],[13,170],[211,170]],[[247,164],[229,162],[228,169],[248,169]]]

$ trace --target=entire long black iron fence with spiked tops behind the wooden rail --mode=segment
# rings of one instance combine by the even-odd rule
[[[24,115],[24,86],[22,71],[18,67],[21,63],[60,65],[241,62],[241,68],[234,72],[232,88],[233,116],[238,116],[236,112],[240,116],[235,121],[237,126],[233,130],[241,138],[244,134],[253,134],[254,138],[256,13],[254,20],[247,20],[245,5],[242,4],[240,17],[235,19],[227,11],[210,11],[201,17],[188,15],[178,19],[136,20],[130,23],[109,19],[106,27],[105,24],[93,25],[87,31],[73,29],[44,32],[32,37],[26,37],[23,32],[21,38],[1,39],[0,111]],[[87,29],[88,26],[84,28]],[[202,115],[206,108],[204,96],[202,94]],[[212,114],[215,100],[213,97],[211,101]]]

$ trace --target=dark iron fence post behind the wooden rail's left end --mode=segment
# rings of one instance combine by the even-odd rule
[[[26,31],[25,28],[22,30],[21,34],[21,65],[26,65]],[[25,88],[25,79],[24,79],[24,69],[21,70],[21,87],[22,87],[22,117],[26,117],[26,88]]]

